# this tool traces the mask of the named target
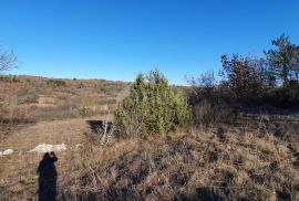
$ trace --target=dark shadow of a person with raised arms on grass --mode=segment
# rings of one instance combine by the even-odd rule
[[[40,161],[39,173],[39,200],[55,201],[56,200],[56,180],[58,172],[55,162],[58,157],[54,152],[45,152]]]

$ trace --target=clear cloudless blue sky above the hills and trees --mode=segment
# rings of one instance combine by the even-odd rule
[[[1,0],[12,74],[171,83],[220,68],[223,53],[261,55],[281,33],[299,43],[298,0]]]

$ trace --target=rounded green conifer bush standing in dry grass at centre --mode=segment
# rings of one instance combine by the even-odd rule
[[[183,95],[157,70],[147,76],[140,74],[128,97],[115,110],[118,137],[166,134],[188,119],[189,109]]]

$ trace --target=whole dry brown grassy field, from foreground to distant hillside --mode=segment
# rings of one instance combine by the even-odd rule
[[[56,151],[59,200],[299,200],[299,112],[244,108],[221,124],[101,145],[130,83],[0,81],[0,200],[38,200],[38,145]]]

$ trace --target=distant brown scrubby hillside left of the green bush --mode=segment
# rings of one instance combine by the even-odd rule
[[[62,80],[65,86],[52,86],[51,78],[16,77],[17,83],[0,81],[0,124],[78,118],[83,107],[86,116],[105,115],[128,91],[128,83],[123,82]],[[0,137],[4,131],[0,129]]]

